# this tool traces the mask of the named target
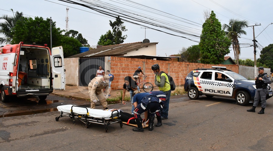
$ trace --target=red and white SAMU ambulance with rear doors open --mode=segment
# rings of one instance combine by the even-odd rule
[[[1,101],[9,96],[38,96],[45,100],[53,90],[65,90],[62,46],[19,44],[0,47]]]

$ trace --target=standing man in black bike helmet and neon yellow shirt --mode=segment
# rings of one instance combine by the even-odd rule
[[[160,68],[158,64],[154,64],[152,66],[153,73],[155,74],[154,78],[154,84],[159,87],[160,91],[163,91],[164,94],[166,95],[166,101],[164,103],[163,110],[161,112],[162,120],[168,119],[168,111],[169,111],[169,103],[170,103],[170,82],[168,79],[168,76],[166,73],[161,73],[160,75]]]

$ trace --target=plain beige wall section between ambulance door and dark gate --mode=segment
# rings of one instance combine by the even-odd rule
[[[66,85],[79,86],[79,58],[65,58]]]

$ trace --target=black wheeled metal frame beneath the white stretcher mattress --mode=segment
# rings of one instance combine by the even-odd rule
[[[74,113],[73,110],[72,110],[73,107],[86,108],[86,107],[82,107],[82,106],[73,105],[71,107],[71,112],[60,111],[61,114],[58,117],[55,117],[55,120],[59,121],[60,117],[68,116],[71,119],[73,119],[73,124],[75,124],[75,118],[76,118],[79,121],[83,122],[85,124],[86,128],[88,128],[91,123],[104,125],[105,132],[107,132],[107,130],[108,130],[107,126],[110,125],[110,124],[120,123],[120,127],[122,128],[122,126],[123,126],[122,120],[117,119],[117,118],[119,118],[121,116],[121,115],[119,115],[119,112],[117,110],[115,110],[117,112],[117,116],[113,116],[113,113],[115,111],[112,111],[111,117],[109,117],[109,118],[97,118],[97,117],[91,117],[91,116],[89,116],[87,108],[86,108],[86,111],[87,111],[86,113],[87,114],[77,114],[77,113]]]

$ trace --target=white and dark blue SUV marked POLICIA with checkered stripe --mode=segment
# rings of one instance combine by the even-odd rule
[[[212,66],[213,69],[195,69],[185,78],[184,89],[188,97],[195,100],[199,95],[234,98],[239,105],[247,105],[254,100],[256,86],[254,80],[226,69]],[[272,97],[272,89],[267,86],[266,99]]]

